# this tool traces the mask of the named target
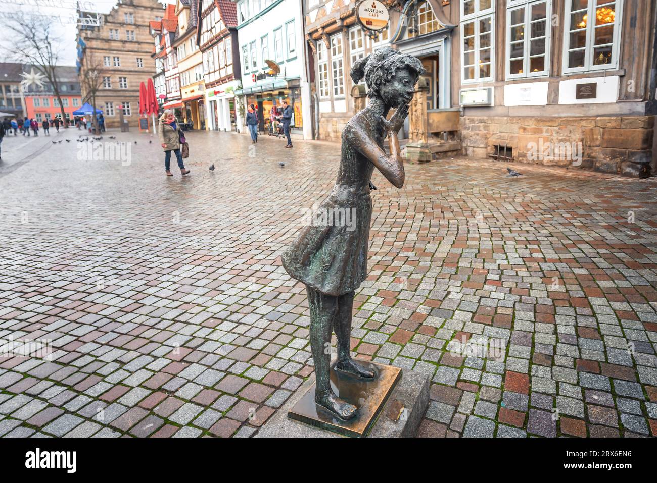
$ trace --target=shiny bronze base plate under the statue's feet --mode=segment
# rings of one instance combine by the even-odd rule
[[[359,361],[374,369],[374,379],[364,379],[336,370],[335,363],[330,367],[330,385],[340,398],[357,406],[358,412],[353,419],[344,421],[326,408],[315,403],[313,384],[306,394],[288,411],[288,417],[344,436],[362,438],[374,425],[376,417],[392,394],[397,381],[401,378],[401,369],[384,366],[376,362]]]

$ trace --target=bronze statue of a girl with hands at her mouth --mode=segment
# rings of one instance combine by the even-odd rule
[[[361,58],[351,68],[351,79],[363,77],[369,105],[351,118],[342,131],[342,154],[335,186],[317,208],[282,260],[290,276],[304,282],[310,307],[310,345],[315,362],[315,402],[341,419],[351,419],[358,408],[341,400],[330,387],[331,332],[338,339],[336,368],[363,378],[374,371],[350,355],[353,294],[367,277],[367,251],[372,219],[371,177],[378,169],[396,188],[404,184],[397,131],[408,114],[415,83],[424,73],[422,62],[390,47]],[[390,108],[396,112],[386,120]],[[388,137],[390,155],[383,149]],[[351,217],[350,223],[338,222]]]

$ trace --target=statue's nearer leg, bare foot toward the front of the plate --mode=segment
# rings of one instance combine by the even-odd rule
[[[315,402],[341,419],[351,419],[357,408],[338,398],[330,388],[330,335],[338,309],[338,297],[325,295],[308,287],[310,308],[310,348],[315,362]]]

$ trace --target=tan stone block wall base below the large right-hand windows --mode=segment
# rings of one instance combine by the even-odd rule
[[[573,166],[645,178],[654,116],[461,117],[463,154],[489,158],[507,145],[521,163]]]

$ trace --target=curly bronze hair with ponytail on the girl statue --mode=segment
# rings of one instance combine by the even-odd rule
[[[417,57],[410,54],[403,54],[392,47],[381,47],[373,54],[360,58],[351,66],[351,79],[357,84],[365,77],[370,97],[378,97],[379,89],[383,83],[386,83],[394,77],[397,69],[408,67],[417,75],[422,75],[424,68],[422,62]]]

